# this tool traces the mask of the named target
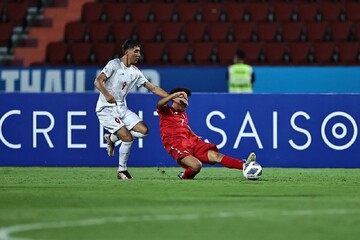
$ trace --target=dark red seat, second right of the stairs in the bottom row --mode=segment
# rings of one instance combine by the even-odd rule
[[[69,53],[71,61],[75,65],[86,66],[91,65],[90,57],[92,52],[92,44],[88,42],[75,42],[69,45]]]

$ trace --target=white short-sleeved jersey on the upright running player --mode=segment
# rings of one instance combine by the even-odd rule
[[[105,88],[114,96],[117,106],[121,108],[127,108],[126,96],[135,84],[140,87],[148,82],[144,74],[136,66],[126,67],[119,58],[109,61],[101,72],[107,77],[104,82]],[[115,104],[108,103],[105,96],[100,93],[96,103],[96,111],[99,112],[104,107],[109,106],[115,106]]]

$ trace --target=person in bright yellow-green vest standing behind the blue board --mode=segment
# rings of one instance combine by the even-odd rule
[[[252,93],[255,83],[253,67],[245,63],[245,52],[237,50],[234,63],[227,69],[230,93]]]

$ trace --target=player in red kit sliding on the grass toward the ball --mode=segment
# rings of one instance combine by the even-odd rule
[[[169,96],[160,99],[157,105],[162,143],[166,151],[185,169],[178,174],[179,178],[193,179],[203,163],[220,163],[227,168],[243,169],[244,161],[219,153],[215,144],[202,141],[191,130],[186,113],[190,96],[190,89],[175,88]],[[172,101],[171,106],[168,105],[169,101]],[[256,161],[255,153],[250,153],[246,163],[252,161]]]

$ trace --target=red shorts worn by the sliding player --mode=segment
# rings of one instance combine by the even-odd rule
[[[165,138],[164,146],[166,151],[182,165],[180,160],[192,155],[203,163],[211,164],[208,158],[208,151],[218,152],[215,144],[206,143],[196,136],[190,138]]]

